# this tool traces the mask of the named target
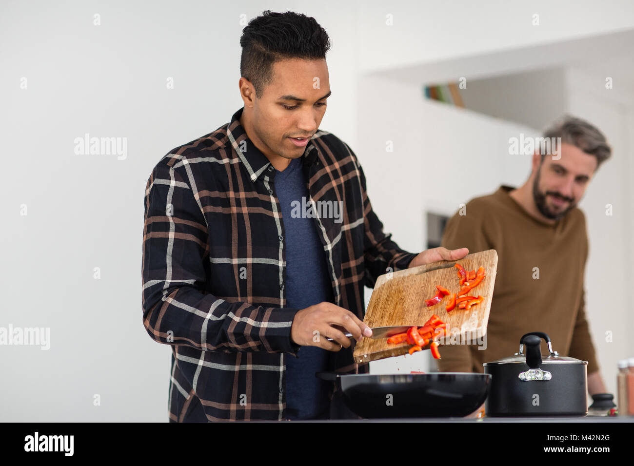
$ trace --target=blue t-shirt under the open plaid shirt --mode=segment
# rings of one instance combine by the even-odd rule
[[[280,200],[286,251],[285,290],[287,307],[304,309],[322,301],[333,302],[326,255],[318,236],[316,219],[298,216],[293,207],[309,204],[302,160],[293,159],[284,171],[276,171],[275,194]],[[304,198],[304,199],[302,199]],[[295,202],[295,204],[294,204]],[[297,204],[299,203],[299,204]],[[294,210],[294,215],[291,212]],[[328,382],[315,372],[327,370],[329,351],[302,346],[299,358],[285,354],[287,417],[293,420],[327,418],[330,408]]]

